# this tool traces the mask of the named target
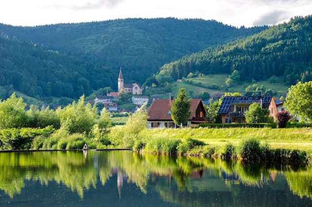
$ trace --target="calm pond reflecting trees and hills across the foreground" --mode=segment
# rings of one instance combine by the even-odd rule
[[[131,151],[0,153],[0,207],[311,207],[312,168]]]

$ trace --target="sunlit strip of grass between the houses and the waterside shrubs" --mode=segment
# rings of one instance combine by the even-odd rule
[[[238,146],[244,138],[257,138],[270,144],[273,149],[296,149],[312,153],[312,129],[270,129],[270,128],[232,128],[232,129],[159,129],[148,130],[150,138],[186,139],[188,137],[204,141],[212,146],[223,146],[227,142]]]

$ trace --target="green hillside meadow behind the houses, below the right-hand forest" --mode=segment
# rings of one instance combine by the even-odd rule
[[[221,86],[223,88],[225,86],[225,79],[228,77],[228,75],[205,75],[204,77],[195,77],[195,78],[189,78],[189,80],[192,80],[194,82],[200,83],[201,86],[193,85],[191,83],[187,82],[175,82],[172,83],[172,91],[173,94],[176,95],[179,88],[185,88],[189,93],[193,93],[193,96],[200,94],[203,91],[208,92],[210,95],[214,94],[223,94],[227,91],[225,90],[214,90],[209,89],[207,87],[216,84],[218,86]],[[247,83],[245,85],[250,85],[252,83]],[[255,82],[255,84],[263,85],[266,89],[272,89],[273,91],[276,91],[278,95],[287,94],[287,86],[283,83],[282,77],[276,77],[276,83],[270,83],[269,80],[261,80]],[[228,92],[239,92],[241,94],[245,93],[245,87],[243,84],[236,84],[234,87],[230,88]]]

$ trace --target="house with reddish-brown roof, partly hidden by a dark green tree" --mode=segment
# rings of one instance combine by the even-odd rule
[[[148,110],[149,118],[147,126],[149,129],[155,128],[176,128],[176,124],[172,120],[170,109],[171,103],[175,100],[162,99],[153,101]],[[205,122],[206,110],[201,99],[191,99],[192,113],[188,124],[196,124]]]

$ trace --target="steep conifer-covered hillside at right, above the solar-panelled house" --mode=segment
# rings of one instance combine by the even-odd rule
[[[230,74],[234,70],[241,80],[249,81],[284,75],[287,85],[295,84],[304,74],[311,78],[312,16],[294,18],[251,37],[184,56],[165,64],[160,74],[179,79],[194,71]]]

